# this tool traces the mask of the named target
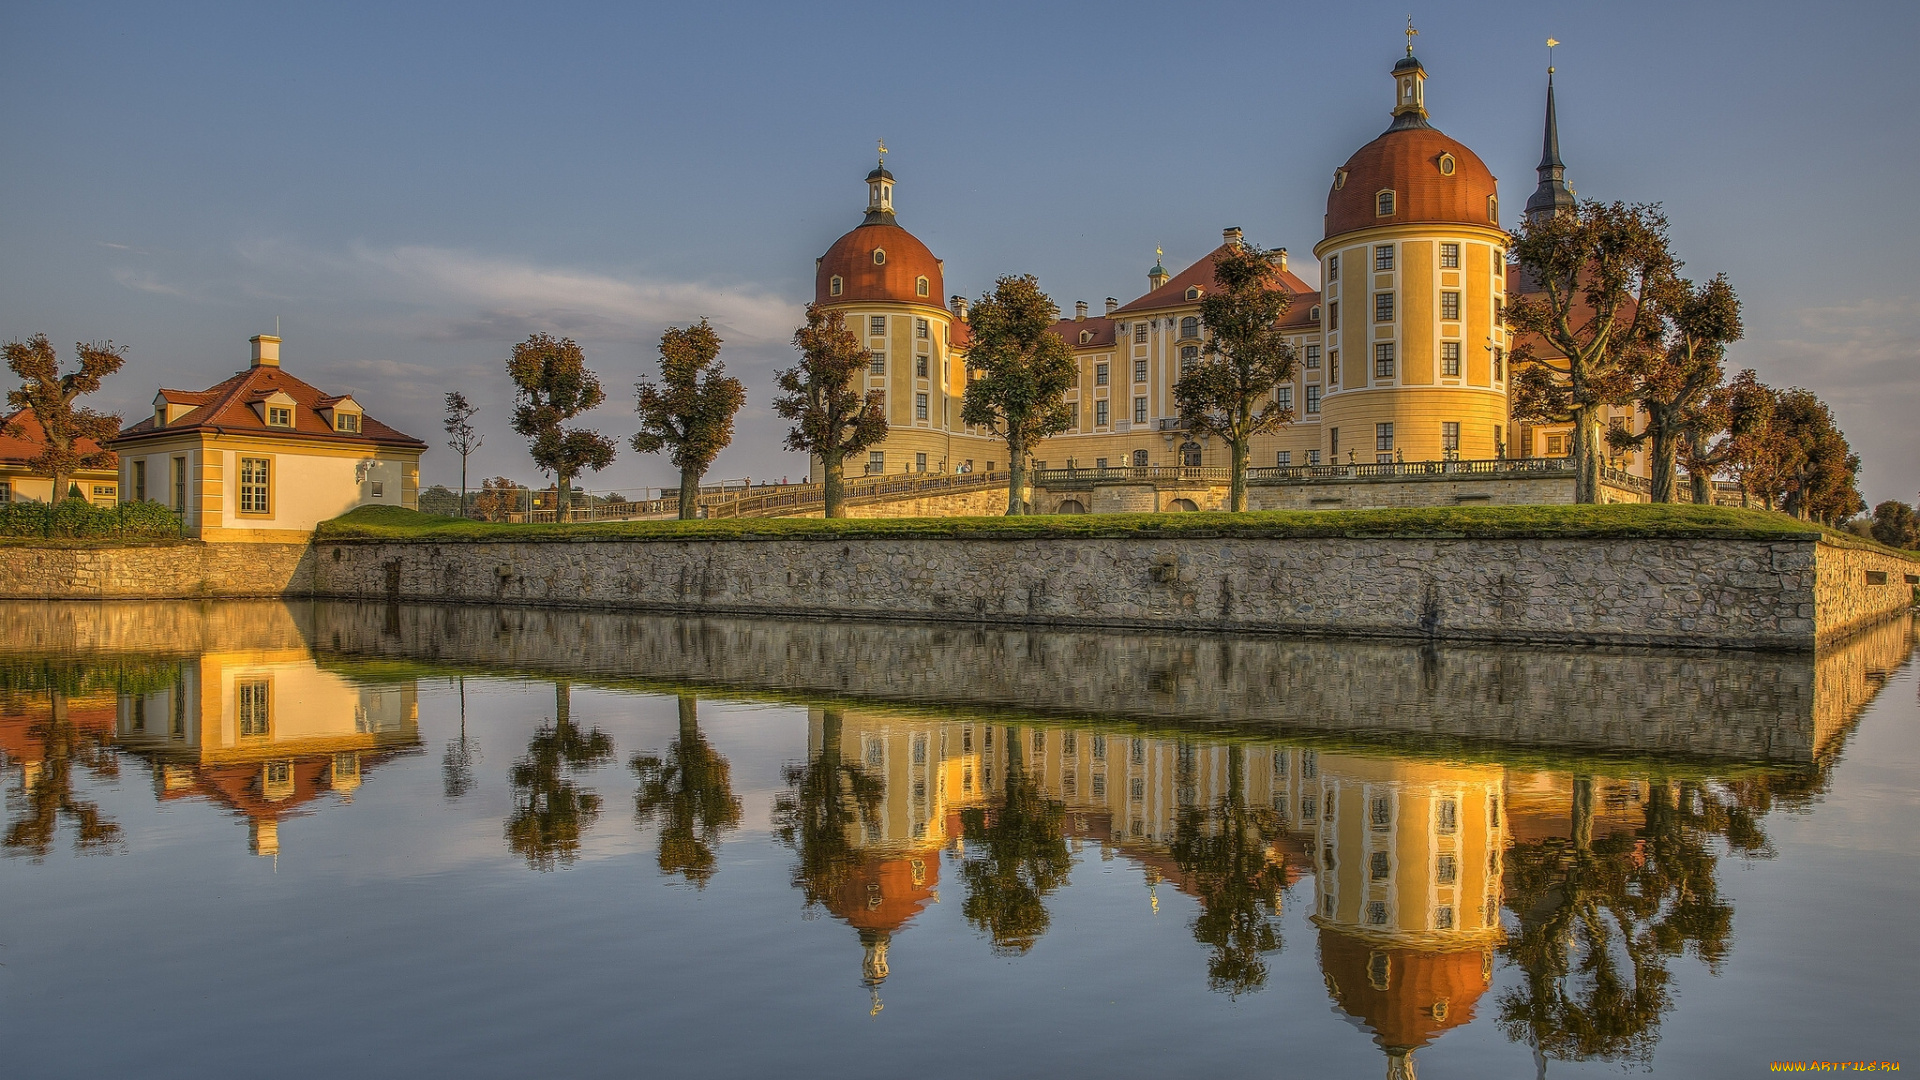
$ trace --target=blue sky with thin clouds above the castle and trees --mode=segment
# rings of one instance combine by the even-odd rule
[[[749,405],[714,477],[799,477],[766,409],[812,259],[860,219],[876,138],[947,290],[1037,273],[1131,300],[1240,225],[1319,238],[1336,165],[1388,123],[1405,4],[0,6],[0,338],[113,338],[104,404],[207,386],[280,319],[290,371],[474,475],[534,479],[503,361],[570,334],[595,423],[634,430],[666,325],[728,340]],[[1920,484],[1920,4],[1428,4],[1434,123],[1519,209],[1544,38],[1584,198],[1659,200],[1747,309],[1734,365],[1803,384]],[[591,488],[672,484],[622,450]]]

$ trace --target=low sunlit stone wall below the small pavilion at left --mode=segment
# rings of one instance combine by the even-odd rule
[[[0,544],[0,600],[192,600],[311,590],[307,544]]]

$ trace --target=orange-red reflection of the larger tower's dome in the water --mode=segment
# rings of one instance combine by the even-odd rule
[[[1463,1026],[1494,978],[1490,947],[1452,953],[1377,947],[1325,926],[1319,945],[1327,992],[1390,1055]]]

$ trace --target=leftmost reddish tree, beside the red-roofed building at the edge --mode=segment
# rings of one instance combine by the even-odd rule
[[[65,498],[75,471],[113,467],[111,450],[96,446],[83,452],[81,440],[104,444],[119,434],[121,425],[119,415],[96,413],[77,402],[100,390],[100,380],[119,371],[127,357],[113,348],[113,342],[79,342],[73,352],[81,367],[61,375],[60,356],[54,354],[46,334],[6,344],[6,365],[19,377],[19,388],[8,390],[6,404],[13,409],[33,409],[33,419],[46,432],[46,442],[27,459],[27,469],[54,480],[50,502]],[[6,434],[19,438],[19,427],[8,425]]]

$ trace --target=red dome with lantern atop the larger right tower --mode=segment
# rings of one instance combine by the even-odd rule
[[[1409,63],[1411,61],[1411,63]],[[1327,236],[1377,225],[1448,223],[1498,229],[1494,173],[1463,142],[1427,123],[1427,71],[1411,56],[1394,67],[1396,83],[1413,85],[1413,104],[1400,106],[1394,125],[1361,146],[1334,173],[1327,192]],[[1392,213],[1380,213],[1380,192],[1394,192]]]

